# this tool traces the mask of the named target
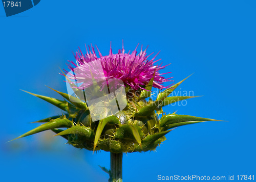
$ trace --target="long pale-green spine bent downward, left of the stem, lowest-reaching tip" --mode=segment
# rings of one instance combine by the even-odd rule
[[[104,118],[102,120],[99,121],[99,125],[97,127],[97,131],[96,131],[96,134],[95,134],[95,139],[94,139],[94,148],[93,150],[95,150],[96,146],[97,146],[97,143],[99,141],[99,138],[101,136],[101,133],[103,131],[103,128],[105,127],[105,125],[107,123],[110,123],[110,124],[118,124],[120,125],[120,121],[117,117],[115,116],[110,116],[110,117],[107,117],[107,118]]]

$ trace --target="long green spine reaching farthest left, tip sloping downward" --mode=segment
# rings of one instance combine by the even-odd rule
[[[66,119],[66,118],[55,119],[55,120],[52,120],[48,123],[42,124],[42,125],[34,128],[34,129],[32,129],[31,131],[13,139],[13,140],[23,138],[23,137],[27,137],[29,135],[33,135],[33,134],[36,134],[36,133],[39,133],[39,132],[43,132],[43,131],[46,131],[48,129],[55,129],[55,128],[59,128],[59,127],[71,127],[71,126],[72,126],[72,121],[70,121],[69,119]],[[13,140],[11,140],[11,141],[13,141]]]

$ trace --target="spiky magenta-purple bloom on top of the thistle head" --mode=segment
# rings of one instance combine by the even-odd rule
[[[138,44],[139,45],[139,44]],[[112,48],[110,44],[110,53],[108,56],[102,56],[97,45],[98,53],[99,53],[99,58],[97,58],[94,47],[91,45],[92,50],[89,47],[89,53],[87,50],[87,54],[82,54],[80,48],[76,54],[74,54],[75,59],[77,61],[77,64],[75,64],[73,61],[69,61],[71,64],[69,64],[69,69],[74,72],[74,69],[76,70],[75,74],[72,74],[65,70],[65,72],[69,75],[69,79],[72,81],[71,83],[77,84],[77,83],[82,83],[79,87],[79,89],[86,88],[88,86],[88,82],[86,82],[88,72],[93,71],[94,79],[95,80],[102,80],[102,79],[120,79],[123,81],[125,86],[129,85],[131,86],[132,89],[138,90],[139,88],[144,89],[143,86],[145,86],[152,77],[154,76],[154,83],[153,87],[158,88],[158,89],[163,89],[163,88],[169,88],[169,86],[164,87],[163,84],[164,82],[170,82],[169,79],[172,79],[173,77],[170,77],[168,79],[165,79],[162,74],[166,73],[159,73],[159,70],[165,68],[165,66],[158,66],[154,65],[157,61],[161,60],[155,60],[157,54],[154,58],[151,60],[148,60],[148,57],[150,57],[152,54],[146,56],[146,49],[142,51],[142,46],[141,46],[141,51],[137,55],[137,47],[136,46],[135,50],[130,54],[130,51],[128,53],[124,53],[124,48],[122,45],[122,49],[118,50],[118,54],[113,54],[112,53]],[[86,48],[87,49],[87,48]],[[104,77],[102,78],[103,73],[97,73],[97,70],[91,70],[88,66],[86,66],[86,63],[93,62],[95,60],[100,60],[101,66],[103,68],[103,73]],[[154,75],[155,73],[155,75]],[[170,72],[167,72],[170,73]],[[90,74],[91,75],[91,74]],[[95,76],[96,75],[96,76]],[[98,75],[98,77],[97,77]],[[173,85],[173,84],[172,84]]]

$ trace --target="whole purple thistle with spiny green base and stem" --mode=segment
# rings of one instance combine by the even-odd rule
[[[102,56],[99,52],[100,58],[97,58],[94,48],[92,47],[91,52],[89,47],[89,53],[87,51],[86,55],[83,55],[81,51],[75,54],[77,64],[72,61],[70,62],[69,68],[72,71],[78,69],[77,74],[66,71],[67,77],[72,80],[70,84],[71,86],[73,85],[74,92],[79,89],[84,90],[88,87],[92,87],[90,89],[97,93],[102,90],[97,82],[96,84],[93,83],[93,85],[83,82],[88,79],[88,72],[95,73],[93,78],[95,80],[103,79],[102,77],[106,77],[106,79],[121,79],[125,84],[124,95],[127,98],[125,99],[125,107],[122,111],[93,122],[92,113],[89,110],[88,98],[81,99],[82,97],[77,94],[72,96],[54,89],[52,90],[59,93],[65,100],[58,100],[28,92],[50,102],[65,113],[36,121],[39,123],[45,122],[45,124],[32,129],[32,131],[18,138],[51,129],[56,136],[62,136],[67,139],[67,143],[74,147],[93,151],[110,151],[111,170],[102,169],[110,174],[111,181],[122,181],[121,163],[123,152],[155,150],[159,144],[166,140],[165,135],[178,126],[204,121],[217,121],[214,119],[178,115],[176,113],[166,114],[163,112],[162,108],[170,103],[196,96],[170,97],[169,95],[187,78],[173,85],[171,88],[164,87],[162,84],[169,81],[169,79],[161,76],[159,71],[165,66],[154,65],[158,61],[154,61],[156,56],[148,60],[146,49],[142,51],[141,48],[138,55],[136,49],[132,54],[130,54],[130,51],[125,54],[123,48],[119,50],[118,54],[113,54],[112,49],[110,49],[108,56]],[[100,61],[103,74],[100,74],[97,70],[92,70],[86,64],[92,63],[91,65],[93,65],[95,61]],[[62,74],[65,75],[65,73]],[[77,85],[78,83],[80,85]],[[108,84],[103,86],[108,87],[109,90],[111,89]],[[156,100],[152,100],[151,98],[148,99],[151,96],[152,87],[166,89],[158,94]],[[131,94],[128,88],[139,92],[136,94],[133,92]],[[109,102],[116,103],[116,100],[118,100],[117,97],[111,97]],[[160,118],[160,116],[162,117]]]

